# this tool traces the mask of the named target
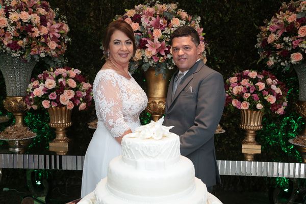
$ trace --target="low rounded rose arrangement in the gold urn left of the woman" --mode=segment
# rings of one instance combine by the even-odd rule
[[[32,78],[25,96],[28,109],[64,107],[87,109],[92,101],[92,85],[86,82],[79,69],[50,68]]]

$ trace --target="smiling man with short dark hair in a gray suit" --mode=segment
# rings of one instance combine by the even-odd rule
[[[216,162],[214,133],[225,102],[222,75],[199,59],[200,41],[192,27],[184,25],[171,35],[172,55],[180,69],[168,88],[164,125],[180,136],[181,155],[195,167],[195,176],[212,192],[221,183]]]

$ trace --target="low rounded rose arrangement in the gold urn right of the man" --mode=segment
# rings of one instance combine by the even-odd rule
[[[288,89],[268,71],[244,70],[226,80],[226,104],[237,109],[282,115]]]

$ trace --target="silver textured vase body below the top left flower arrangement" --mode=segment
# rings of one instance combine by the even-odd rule
[[[25,62],[7,54],[0,55],[0,70],[3,74],[7,96],[25,96],[36,61]]]

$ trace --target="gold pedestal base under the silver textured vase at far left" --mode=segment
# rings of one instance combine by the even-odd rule
[[[23,96],[7,96],[3,100],[4,108],[13,113],[15,116],[15,124],[24,126],[23,116],[27,111],[27,104],[25,104]]]

